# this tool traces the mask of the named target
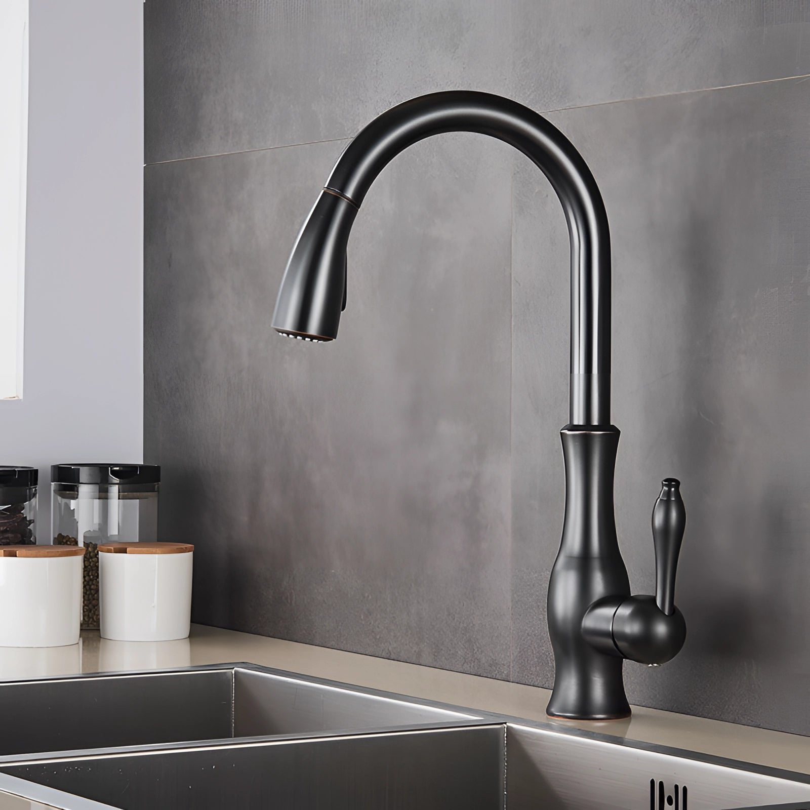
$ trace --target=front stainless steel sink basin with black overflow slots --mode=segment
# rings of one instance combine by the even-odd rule
[[[125,810],[723,810],[805,799],[798,774],[501,723],[254,740],[4,765]],[[2,782],[0,782],[2,787]],[[91,807],[96,805],[90,805]],[[0,804],[2,808],[2,804]]]

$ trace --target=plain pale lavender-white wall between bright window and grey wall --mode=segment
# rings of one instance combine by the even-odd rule
[[[0,464],[143,454],[143,2],[31,0],[23,399]]]

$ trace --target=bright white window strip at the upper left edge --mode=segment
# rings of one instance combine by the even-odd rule
[[[0,118],[0,399],[22,399],[28,0],[0,0]]]

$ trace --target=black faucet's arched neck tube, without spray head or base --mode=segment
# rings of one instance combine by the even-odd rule
[[[360,207],[377,175],[399,152],[442,132],[478,132],[522,151],[560,198],[571,241],[569,421],[610,424],[610,232],[602,195],[585,160],[544,117],[502,96],[432,93],[382,113],[350,143],[326,191]]]

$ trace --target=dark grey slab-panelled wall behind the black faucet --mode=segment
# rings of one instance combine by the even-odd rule
[[[547,111],[612,224],[620,543],[684,481],[671,664],[630,700],[810,734],[810,3],[147,0],[146,457],[194,619],[549,686],[568,235],[527,160],[411,147],[340,339],[270,329],[347,138],[420,92]],[[795,78],[802,77],[802,78]],[[713,89],[708,89],[713,88]]]

